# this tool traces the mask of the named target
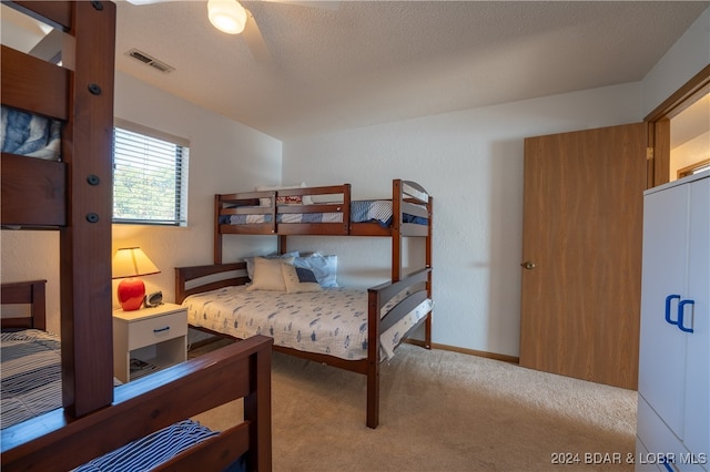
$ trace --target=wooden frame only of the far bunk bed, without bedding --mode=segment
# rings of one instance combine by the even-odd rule
[[[367,315],[367,357],[362,360],[345,360],[333,356],[304,352],[297,349],[284,348],[274,345],[274,350],[291,356],[326,363],[341,369],[365,374],[367,378],[367,414],[366,424],[376,428],[379,423],[379,336],[389,327],[402,319],[409,310],[426,298],[432,298],[432,218],[433,197],[429,196],[419,184],[408,181],[394,179],[392,187],[393,223],[389,227],[383,227],[378,223],[352,223],[349,218],[351,185],[334,185],[321,187],[290,188],[276,192],[250,192],[215,195],[215,238],[214,238],[214,265],[197,267],[181,267],[175,269],[175,300],[181,304],[187,296],[214,290],[217,288],[244,285],[248,278],[244,274],[245,263],[223,264],[222,243],[226,234],[266,234],[278,236],[280,253],[286,252],[286,238],[290,235],[317,235],[317,236],[382,236],[392,238],[392,280],[368,289]],[[343,203],[313,204],[313,205],[282,205],[275,204],[278,196],[305,196],[305,195],[342,195]],[[424,197],[423,197],[424,195]],[[260,198],[271,198],[270,206],[255,207]],[[425,199],[423,199],[425,198]],[[424,204],[424,207],[422,206]],[[233,214],[254,214],[258,209],[271,214],[267,224],[226,225],[220,223],[220,217]],[[343,213],[343,223],[287,223],[277,224],[278,213]],[[404,214],[427,218],[426,225],[404,223]],[[424,237],[425,266],[408,275],[403,275],[402,252],[403,238]],[[236,275],[234,275],[236,271]],[[219,275],[225,275],[223,279]],[[216,276],[216,277],[215,277]],[[204,279],[207,277],[206,279]],[[202,284],[200,280],[207,280]],[[190,287],[190,288],[187,288]],[[397,307],[381,318],[379,314],[390,299],[404,289],[409,289],[413,295],[403,300]],[[432,312],[429,311],[419,322],[409,330],[424,325],[424,347],[432,347]],[[224,334],[210,331],[217,336]]]

